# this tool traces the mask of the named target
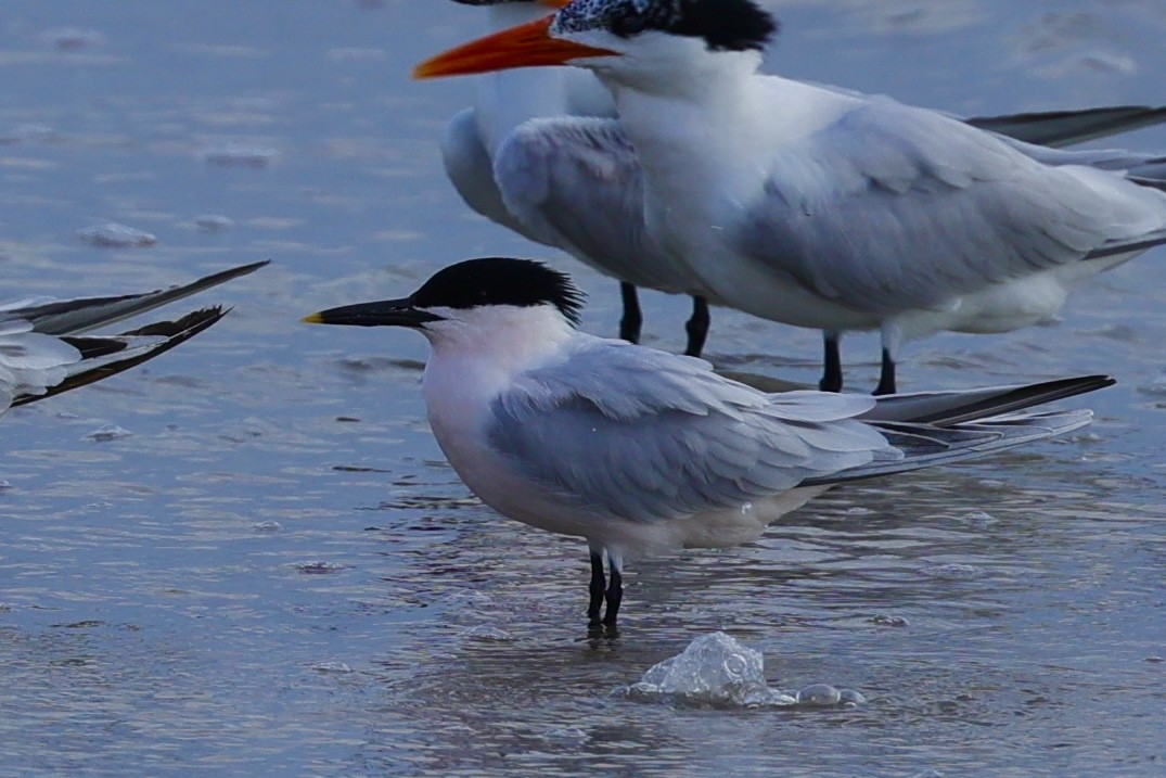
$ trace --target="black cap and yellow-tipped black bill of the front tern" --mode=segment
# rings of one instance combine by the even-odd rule
[[[424,328],[450,310],[486,306],[554,306],[573,325],[580,322],[583,293],[566,273],[529,259],[470,259],[438,271],[401,300],[363,302],[305,316],[310,324]],[[442,311],[442,313],[438,313]]]

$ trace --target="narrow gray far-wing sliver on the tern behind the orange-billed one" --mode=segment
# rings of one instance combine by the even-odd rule
[[[494,183],[493,160],[482,141],[473,108],[458,112],[445,126],[441,139],[441,157],[445,175],[466,205],[525,238],[547,243],[540,240],[506,209],[498,184]]]

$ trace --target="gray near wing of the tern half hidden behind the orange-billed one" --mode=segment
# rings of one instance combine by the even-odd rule
[[[621,281],[686,290],[676,264],[645,230],[644,171],[618,121],[526,121],[498,149],[494,180],[540,241]]]

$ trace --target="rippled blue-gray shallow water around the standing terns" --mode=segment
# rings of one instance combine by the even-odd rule
[[[1157,0],[778,7],[768,66],[791,76],[965,114],[1166,103]],[[407,0],[6,3],[3,296],[273,265],[202,295],[236,308],[147,369],[0,422],[0,776],[1163,775],[1166,253],[1054,327],[907,349],[908,388],[1111,372],[1075,401],[1093,427],[637,562],[619,637],[589,638],[582,544],[498,518],[442,462],[421,338],[296,321],[457,259],[547,255],[441,174],[470,83],[405,77],[479,28]],[[156,244],[78,238],[111,222]],[[611,332],[612,285],[555,260]],[[676,349],[683,301],[645,304]],[[813,332],[715,311],[709,349],[816,378]],[[844,355],[873,385],[874,339]],[[128,434],[93,439],[110,426]],[[773,686],[868,703],[610,696],[718,629]]]

